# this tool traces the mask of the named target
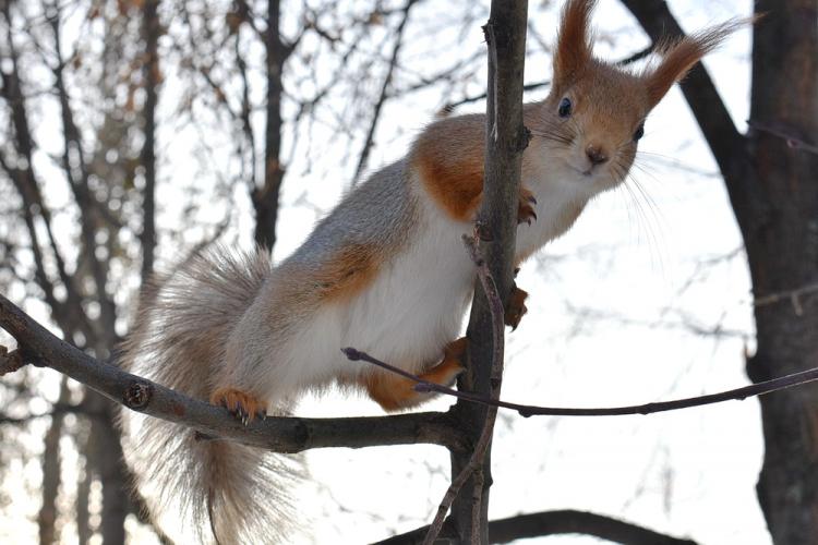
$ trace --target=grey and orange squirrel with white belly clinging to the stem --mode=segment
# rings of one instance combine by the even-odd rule
[[[524,108],[517,264],[565,233],[596,195],[625,180],[645,120],[671,86],[743,21],[660,46],[626,70],[593,57],[596,0],[567,0],[549,96]],[[438,119],[400,160],[374,172],[278,265],[268,253],[215,247],[145,290],[122,349],[130,372],[227,408],[243,422],[288,414],[300,392],[364,390],[387,411],[428,393],[400,376],[349,362],[356,347],[423,379],[464,370],[457,339],[476,272],[460,235],[480,204],[485,116]],[[526,293],[515,288],[506,322]],[[124,410],[125,459],[152,514],[197,529],[203,542],[286,540],[297,458],[224,440]],[[209,530],[208,530],[209,529]],[[210,535],[212,534],[212,535]]]

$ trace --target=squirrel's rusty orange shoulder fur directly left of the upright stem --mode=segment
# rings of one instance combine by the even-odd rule
[[[458,221],[473,219],[480,205],[484,125],[482,116],[445,119],[426,128],[414,145],[423,186]]]

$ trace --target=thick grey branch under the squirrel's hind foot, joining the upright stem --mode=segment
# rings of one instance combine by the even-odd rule
[[[48,366],[129,409],[188,425],[207,440],[232,439],[278,452],[312,448],[441,445],[464,451],[467,440],[448,413],[411,413],[349,419],[267,417],[243,426],[225,409],[189,398],[91,358],[58,339],[0,295],[0,327],[19,343],[24,362]]]

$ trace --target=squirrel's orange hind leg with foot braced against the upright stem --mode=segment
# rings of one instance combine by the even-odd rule
[[[450,385],[457,375],[466,368],[462,359],[466,354],[466,337],[461,337],[446,344],[443,351],[443,361],[419,375],[423,380]],[[404,378],[389,372],[377,371],[363,378],[363,386],[370,397],[376,401],[385,411],[397,411],[417,405],[429,399],[428,393],[414,390],[414,380]]]

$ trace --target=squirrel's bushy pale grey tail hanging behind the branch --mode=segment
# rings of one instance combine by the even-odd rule
[[[230,329],[250,305],[270,262],[221,247],[195,255],[145,291],[122,366],[207,400]],[[288,491],[298,457],[227,440],[195,438],[185,426],[123,410],[125,460],[153,520],[180,543],[279,543],[293,530]]]

